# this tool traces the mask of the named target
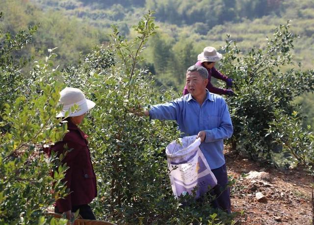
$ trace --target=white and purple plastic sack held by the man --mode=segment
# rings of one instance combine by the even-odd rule
[[[215,175],[211,172],[199,146],[201,138],[194,136],[181,138],[182,145],[176,141],[166,148],[171,187],[174,196],[191,194],[197,187],[195,198],[199,198],[217,184]],[[177,167],[177,169],[173,169]]]

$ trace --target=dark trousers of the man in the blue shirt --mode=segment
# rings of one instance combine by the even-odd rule
[[[217,169],[211,170],[217,179],[217,185],[211,190],[211,195],[215,195],[216,199],[212,201],[215,208],[220,208],[225,212],[231,212],[230,187],[228,184],[228,175],[226,164]]]

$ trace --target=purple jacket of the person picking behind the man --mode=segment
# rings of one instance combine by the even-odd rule
[[[203,66],[201,61],[197,61],[195,63],[195,65]],[[207,69],[206,67],[204,67],[204,68]],[[208,82],[206,88],[209,90],[209,92],[215,93],[215,94],[219,94],[219,95],[227,95],[227,90],[226,89],[221,89],[221,88],[217,88],[217,87],[212,86],[212,84],[210,83],[210,79],[211,79],[211,76],[213,76],[213,77],[215,77],[217,79],[221,79],[223,81],[227,81],[228,76],[223,75],[222,73],[217,71],[214,67],[212,67],[211,69],[207,69],[207,72],[208,72],[208,80],[209,80],[209,82]],[[186,86],[184,87],[182,94],[183,95],[188,94]]]

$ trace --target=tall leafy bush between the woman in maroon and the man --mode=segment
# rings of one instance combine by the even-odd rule
[[[108,48],[94,49],[64,73],[68,86],[81,88],[96,102],[82,124],[90,135],[98,180],[92,208],[97,218],[117,224],[231,224],[234,215],[219,212],[209,201],[174,198],[164,151],[179,137],[177,125],[137,116],[142,107],[175,98],[168,92],[160,94],[152,76],[139,66],[144,61],[141,52],[156,32],[153,19],[148,13],[133,27],[137,32],[133,40],[120,36],[113,26]],[[183,201],[189,204],[183,207]]]

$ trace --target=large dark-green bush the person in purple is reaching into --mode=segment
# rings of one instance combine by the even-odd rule
[[[228,98],[234,134],[232,149],[254,160],[274,163],[273,152],[281,152],[268,128],[277,118],[290,116],[299,106],[293,100],[314,91],[314,71],[288,69],[293,65],[291,49],[297,35],[290,32],[289,22],[275,29],[263,49],[252,47],[244,53],[228,37],[222,48],[221,70],[235,80],[235,96]],[[299,65],[300,66],[300,65]],[[301,117],[297,117],[301,122]],[[276,164],[276,162],[275,162]]]

